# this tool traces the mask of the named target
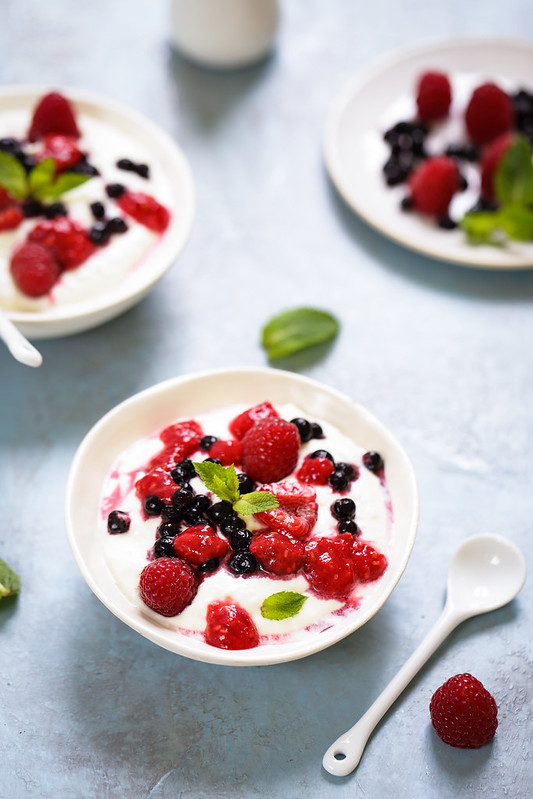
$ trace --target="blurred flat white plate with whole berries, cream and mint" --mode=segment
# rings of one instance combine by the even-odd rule
[[[438,41],[352,78],[328,110],[326,166],[398,244],[491,269],[533,266],[533,43]]]

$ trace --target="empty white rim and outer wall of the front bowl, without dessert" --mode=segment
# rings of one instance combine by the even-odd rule
[[[335,424],[365,449],[385,459],[395,530],[389,567],[360,607],[334,627],[305,641],[227,651],[158,625],[120,591],[98,546],[99,502],[104,478],[130,444],[170,424],[213,408],[265,399],[291,402],[309,417]],[[414,544],[418,489],[413,467],[391,433],[349,397],[309,378],[269,368],[224,369],[169,380],[142,391],[107,413],[90,430],[72,463],[66,492],[66,524],[74,558],[96,596],[119,619],[159,646],[207,663],[258,666],[311,655],[357,630],[380,609],[400,579]]]

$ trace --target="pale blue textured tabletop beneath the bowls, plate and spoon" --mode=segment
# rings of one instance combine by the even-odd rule
[[[437,36],[532,36],[531,4],[287,0],[282,12],[275,56],[223,75],[172,54],[166,3],[2,0],[2,84],[131,105],[177,139],[198,191],[186,251],[137,308],[39,342],[39,370],[0,347],[0,557],[23,582],[0,606],[2,799],[530,795],[530,582],[451,636],[352,776],[321,769],[439,615],[457,544],[496,532],[531,555],[533,272],[450,266],[381,238],[331,188],[320,137],[332,96],[374,57]],[[296,304],[330,308],[342,333],[322,361],[288,365],[351,394],[402,441],[420,482],[417,543],[383,609],[328,651],[250,669],[187,661],[83,581],[63,522],[70,461],[136,391],[264,364],[261,323]],[[462,671],[500,707],[494,742],[473,752],[429,723],[431,694]]]

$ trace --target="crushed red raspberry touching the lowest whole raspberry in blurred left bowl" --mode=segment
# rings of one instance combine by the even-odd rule
[[[62,269],[75,269],[96,249],[85,228],[66,216],[40,222],[28,234],[28,241],[51,250]]]

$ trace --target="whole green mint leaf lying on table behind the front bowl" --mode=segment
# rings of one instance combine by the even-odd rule
[[[262,345],[269,358],[284,358],[334,338],[339,323],[327,311],[294,308],[273,317],[263,328]]]

